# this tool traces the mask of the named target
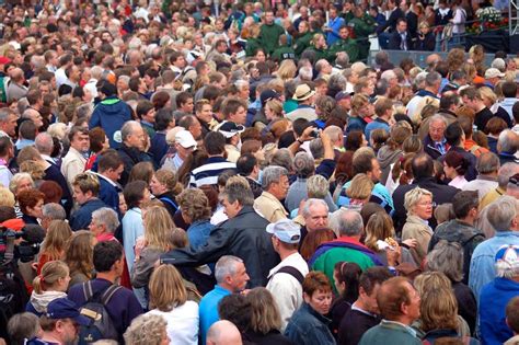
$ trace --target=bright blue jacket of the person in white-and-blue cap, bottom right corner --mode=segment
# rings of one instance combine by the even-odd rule
[[[506,324],[506,306],[519,296],[519,283],[495,278],[480,295],[480,337],[482,344],[500,345],[514,336]]]

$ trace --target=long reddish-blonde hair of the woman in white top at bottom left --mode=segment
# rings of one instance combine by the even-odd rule
[[[150,309],[172,311],[187,300],[181,274],[173,265],[159,266],[150,278]]]

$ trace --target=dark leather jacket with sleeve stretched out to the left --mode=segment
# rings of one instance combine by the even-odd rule
[[[244,206],[235,217],[223,221],[211,231],[207,244],[198,251],[173,250],[161,256],[168,264],[199,266],[215,263],[222,255],[235,255],[243,260],[251,278],[249,287],[266,286],[268,273],[279,263],[270,234],[265,231],[268,221]]]

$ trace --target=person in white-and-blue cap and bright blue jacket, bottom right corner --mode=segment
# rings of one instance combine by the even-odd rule
[[[508,302],[519,296],[519,245],[505,244],[495,255],[496,278],[480,296],[480,338],[483,344],[503,344],[514,335],[506,322]]]

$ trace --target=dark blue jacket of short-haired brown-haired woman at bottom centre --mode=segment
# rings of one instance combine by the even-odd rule
[[[330,320],[303,302],[288,322],[285,335],[298,345],[335,345],[335,338],[328,330]]]

